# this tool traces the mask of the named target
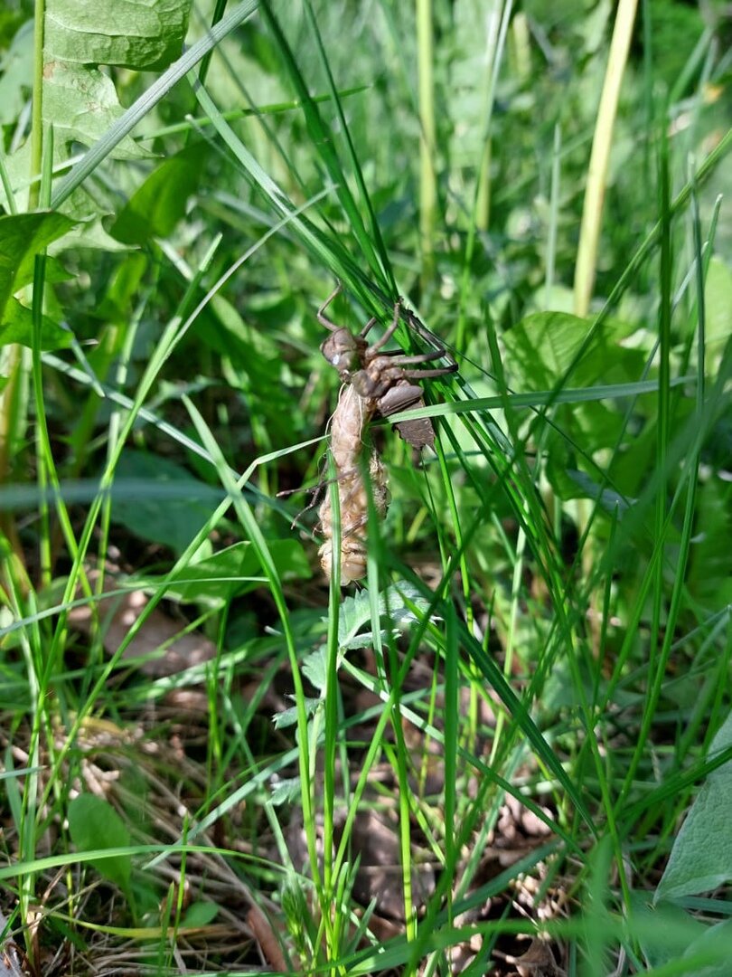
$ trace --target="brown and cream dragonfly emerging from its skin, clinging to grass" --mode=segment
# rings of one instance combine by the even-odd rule
[[[358,335],[326,319],[325,310],[340,290],[339,284],[318,310],[317,318],[331,331],[320,349],[344,381],[338,406],[331,418],[330,448],[336,469],[341,513],[339,564],[341,582],[345,585],[366,575],[369,492],[379,515],[386,515],[388,502],[386,469],[373,446],[366,445],[370,452],[368,464],[363,459],[365,430],[369,421],[376,415],[388,417],[400,410],[424,404],[422,388],[412,381],[452,373],[458,364],[452,362],[448,366],[413,369],[417,363],[442,358],[446,355],[445,351],[439,349],[409,356],[402,350],[384,350],[399,324],[403,305],[401,299],[394,305],[394,318],[384,335],[369,346],[366,336],[377,319],[369,319]],[[406,315],[408,320],[411,317],[413,322],[419,323],[413,314]],[[416,448],[434,445],[434,429],[427,417],[400,421],[395,426],[401,437]],[[324,539],[319,551],[320,565],[326,576],[330,577],[334,558],[330,493],[323,500],[318,515]]]

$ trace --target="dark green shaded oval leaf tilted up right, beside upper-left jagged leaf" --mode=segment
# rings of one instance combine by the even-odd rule
[[[112,236],[124,244],[144,244],[171,234],[198,187],[204,151],[200,144],[183,149],[153,170],[112,225]]]

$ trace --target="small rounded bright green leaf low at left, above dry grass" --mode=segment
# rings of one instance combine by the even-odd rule
[[[117,812],[94,794],[80,794],[68,805],[68,830],[80,852],[103,852],[107,848],[124,848],[130,844],[130,832]],[[129,889],[132,873],[129,855],[92,859],[91,862],[104,878],[124,892]]]

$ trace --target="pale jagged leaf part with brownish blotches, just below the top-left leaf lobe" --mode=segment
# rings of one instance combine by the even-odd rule
[[[43,117],[53,124],[60,145],[77,141],[93,146],[124,111],[111,78],[99,68],[62,61],[44,65]],[[144,159],[149,153],[125,136],[110,155]]]

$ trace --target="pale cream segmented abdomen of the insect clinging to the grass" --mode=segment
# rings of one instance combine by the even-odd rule
[[[368,499],[371,491],[376,511],[386,514],[386,469],[379,455],[369,448],[368,481],[365,466],[363,431],[376,404],[356,393],[351,384],[341,390],[336,412],[331,418],[330,450],[336,468],[336,484],[341,509],[341,582],[351,583],[366,575],[366,524]],[[320,529],[324,542],[320,547],[320,565],[327,577],[333,564],[333,510],[330,492],[320,506]]]

